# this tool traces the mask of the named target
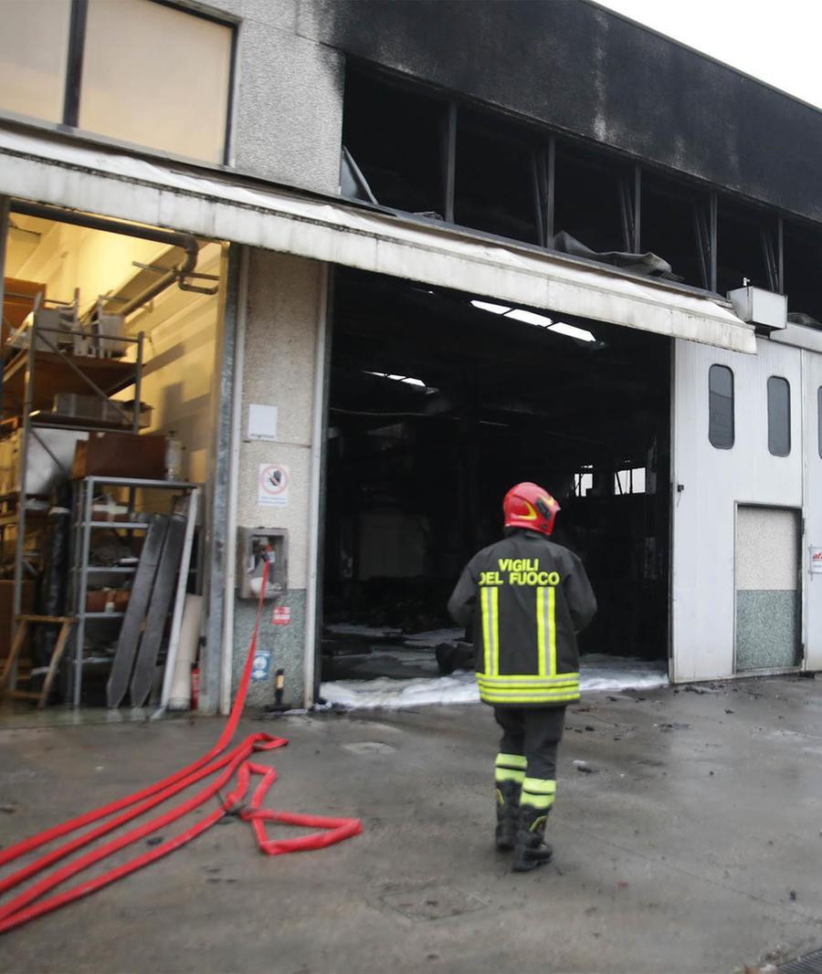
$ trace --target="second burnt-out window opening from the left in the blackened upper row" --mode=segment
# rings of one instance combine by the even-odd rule
[[[454,217],[500,237],[539,243],[535,150],[497,123],[460,111]]]

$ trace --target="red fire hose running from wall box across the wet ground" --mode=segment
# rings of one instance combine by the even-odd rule
[[[108,805],[102,805],[94,811],[88,811],[77,818],[69,819],[61,825],[56,825],[39,835],[32,836],[21,843],[12,845],[7,849],[0,849],[0,867],[7,863],[14,862],[20,856],[32,852],[41,845],[53,843],[64,836],[68,836],[86,826],[94,826],[89,831],[69,839],[67,842],[55,846],[51,851],[45,853],[40,858],[23,866],[16,873],[0,880],[0,895],[15,889],[21,882],[29,880],[34,876],[43,873],[48,867],[58,863],[61,859],[74,852],[85,848],[94,843],[100,837],[113,832],[115,829],[133,819],[137,819],[145,812],[161,805],[173,798],[179,792],[184,791],[191,785],[210,778],[211,781],[195,795],[180,802],[178,805],[168,809],[154,818],[138,824],[123,835],[117,836],[110,842],[100,844],[95,848],[90,848],[82,855],[72,859],[70,863],[59,867],[59,869],[46,875],[43,879],[33,883],[27,889],[0,906],[0,933],[12,930],[23,923],[43,914],[51,913],[59,907],[72,903],[80,899],[81,896],[88,896],[90,893],[107,886],[115,880],[120,880],[130,873],[142,869],[155,859],[160,859],[170,852],[174,852],[180,845],[191,842],[207,829],[211,828],[226,815],[237,815],[244,821],[250,822],[254,829],[257,844],[261,852],[267,855],[282,855],[285,852],[302,852],[309,849],[325,848],[327,845],[342,842],[352,836],[359,835],[363,831],[362,823],[358,818],[329,818],[327,816],[302,815],[289,811],[274,811],[270,808],[263,808],[262,803],[266,793],[272,784],[277,780],[277,771],[264,765],[257,765],[250,761],[250,756],[255,751],[272,751],[277,747],[288,744],[284,737],[274,737],[272,734],[258,731],[250,734],[240,743],[235,744],[229,749],[234,732],[243,708],[246,703],[246,695],[251,679],[252,663],[256,651],[257,638],[259,635],[259,620],[262,615],[263,598],[268,581],[268,563],[266,562],[262,584],[260,586],[259,601],[257,603],[256,621],[254,623],[254,635],[249,646],[249,653],[246,657],[246,664],[243,668],[243,676],[240,687],[231,708],[231,714],[223,728],[215,746],[201,758],[198,758],[187,768],[181,768],[176,773],[162,781],[157,781],[141,791],[135,792],[125,798]],[[217,773],[218,772],[218,773]],[[227,787],[236,775],[236,783],[233,790],[228,792],[223,799],[221,791]],[[252,775],[258,775],[259,781],[254,788],[251,798],[247,798],[251,787]],[[205,805],[216,796],[219,805],[206,815],[201,821],[180,832],[172,839],[158,843],[145,852],[122,863],[105,873],[93,877],[92,879],[78,882],[76,885],[62,892],[52,893],[52,890],[81,874],[84,870],[106,859],[108,856],[119,852],[127,845],[137,843],[152,833],[161,829],[166,829],[195,808]],[[311,833],[310,835],[300,836],[295,839],[271,840],[265,832],[266,822],[280,822],[284,825],[304,826],[322,831]],[[96,824],[97,823],[97,824]]]

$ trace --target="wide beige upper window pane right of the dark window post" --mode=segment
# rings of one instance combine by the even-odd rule
[[[232,34],[151,0],[90,0],[80,128],[221,163]]]

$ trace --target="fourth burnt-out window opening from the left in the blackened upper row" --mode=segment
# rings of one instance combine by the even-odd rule
[[[708,288],[707,196],[647,171],[642,185],[642,249],[667,260],[686,284]]]

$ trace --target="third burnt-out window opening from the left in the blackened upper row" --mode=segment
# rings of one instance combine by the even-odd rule
[[[623,206],[628,172],[607,157],[557,146],[554,232],[590,249],[630,250]]]

